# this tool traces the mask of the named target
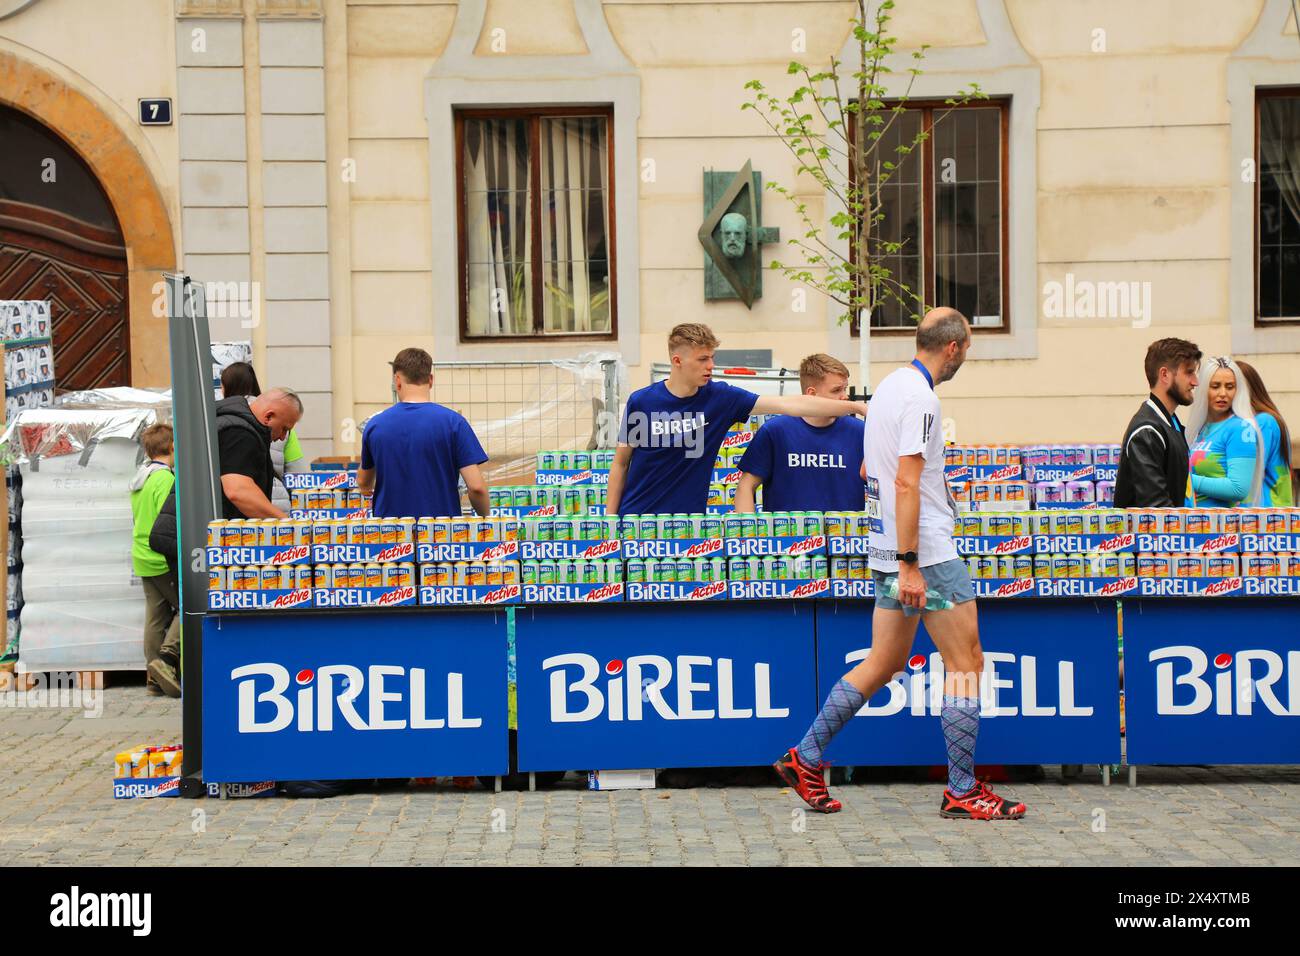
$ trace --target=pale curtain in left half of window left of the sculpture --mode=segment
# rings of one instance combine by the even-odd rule
[[[468,120],[464,142],[468,332],[532,334],[528,126]]]

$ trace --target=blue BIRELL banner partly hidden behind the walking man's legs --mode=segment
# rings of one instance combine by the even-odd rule
[[[818,700],[871,648],[872,605],[819,601]],[[980,602],[978,763],[1119,761],[1119,650],[1114,601]],[[946,761],[944,662],[926,626],[904,667],[831,743],[826,758],[864,766]]]

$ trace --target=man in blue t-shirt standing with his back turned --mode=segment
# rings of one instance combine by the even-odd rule
[[[463,477],[469,503],[486,515],[488,483],[478,466],[488,455],[459,412],[429,398],[433,358],[403,349],[389,364],[398,402],[367,424],[356,472],[356,486],[373,490],[370,510],[376,518],[459,515]]]

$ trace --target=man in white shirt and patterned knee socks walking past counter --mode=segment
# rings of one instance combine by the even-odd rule
[[[948,749],[948,787],[939,813],[954,819],[1019,819],[1024,804],[997,796],[975,779],[979,644],[975,591],[953,544],[957,506],[944,479],[944,438],[935,386],[957,375],[971,346],[966,317],[935,308],[916,328],[916,358],[893,371],[871,397],[863,467],[871,515],[870,563],[876,585],[871,653],[831,689],[807,735],[774,766],[814,810],[836,813],[822,753],[871,696],[904,671],[916,622],[944,658],[940,723]]]

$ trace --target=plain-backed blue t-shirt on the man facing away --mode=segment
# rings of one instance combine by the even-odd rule
[[[460,514],[460,470],[488,460],[469,423],[434,402],[398,402],[361,433],[361,467],[374,468],[376,518]]]

